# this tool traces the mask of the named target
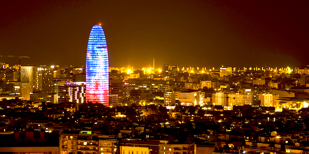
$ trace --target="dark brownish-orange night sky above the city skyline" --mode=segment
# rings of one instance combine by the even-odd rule
[[[78,2],[77,2],[78,1]],[[102,23],[109,66],[309,65],[308,0],[1,0],[0,55],[85,65]],[[18,58],[0,62],[18,64]]]

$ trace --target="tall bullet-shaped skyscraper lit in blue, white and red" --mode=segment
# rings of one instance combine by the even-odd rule
[[[86,102],[108,106],[108,52],[101,25],[90,31],[86,55]]]

